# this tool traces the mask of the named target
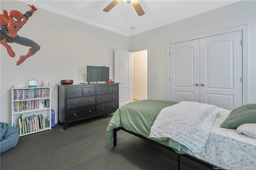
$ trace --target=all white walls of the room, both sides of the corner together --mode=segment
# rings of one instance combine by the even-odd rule
[[[256,103],[255,6],[256,1],[235,2],[129,38],[38,8],[18,32],[40,45],[35,55],[17,66],[19,56],[26,54],[28,47],[12,43],[16,57],[11,58],[0,45],[0,121],[11,123],[12,85],[26,86],[29,79],[37,79],[38,83],[50,81],[52,109],[57,116],[56,84],[62,79],[85,82],[86,65],[108,66],[110,79],[114,78],[114,49],[150,47],[150,79],[154,80],[150,82],[150,98],[166,99],[168,42],[244,24],[248,24],[248,102]],[[25,13],[30,7],[19,1],[0,1],[1,13],[4,9]],[[154,73],[158,73],[157,78]]]

